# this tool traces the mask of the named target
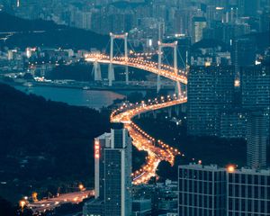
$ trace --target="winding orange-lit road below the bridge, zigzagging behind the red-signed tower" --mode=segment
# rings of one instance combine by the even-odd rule
[[[143,112],[154,111],[173,105],[186,103],[187,98],[161,98],[161,102],[153,100],[152,102],[139,104],[124,104],[116,111],[112,112],[112,122],[122,122],[127,130],[129,130],[133,145],[139,150],[148,152],[146,164],[132,174],[133,184],[147,183],[152,176],[156,176],[157,166],[160,161],[166,160],[174,165],[175,156],[181,155],[176,148],[171,148],[160,140],[156,140],[149,136],[145,131],[141,130],[138,125],[132,122],[132,118]]]

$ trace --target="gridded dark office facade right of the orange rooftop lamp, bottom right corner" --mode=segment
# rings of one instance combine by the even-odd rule
[[[227,216],[270,215],[270,170],[228,172]]]

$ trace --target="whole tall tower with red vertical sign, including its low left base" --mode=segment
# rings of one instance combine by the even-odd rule
[[[131,143],[121,127],[94,139],[95,200],[85,203],[85,216],[131,214]]]

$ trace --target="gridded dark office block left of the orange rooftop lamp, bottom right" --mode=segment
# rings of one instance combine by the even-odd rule
[[[179,166],[178,192],[179,216],[223,216],[226,170],[218,166]]]

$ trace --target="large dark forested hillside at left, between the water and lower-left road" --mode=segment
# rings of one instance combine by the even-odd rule
[[[0,84],[0,181],[93,176],[94,137],[107,115]]]

